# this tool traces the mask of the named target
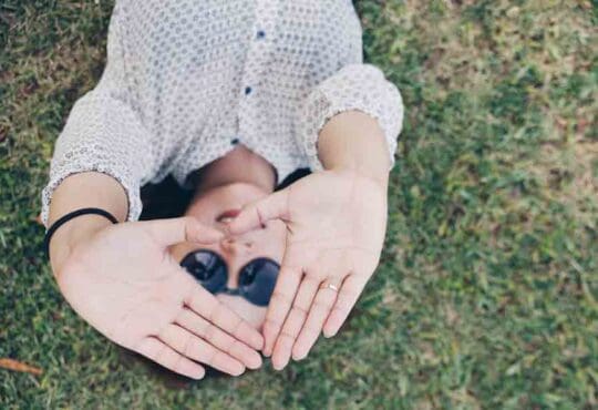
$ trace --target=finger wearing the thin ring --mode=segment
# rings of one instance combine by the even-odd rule
[[[334,285],[337,289],[339,289],[342,279],[329,279],[327,283]],[[332,306],[334,306],[334,303],[337,301],[337,296],[338,290],[329,287],[320,288],[320,290],[318,290],[313,304],[309,309],[306,324],[292,347],[292,358],[295,360],[305,359],[316,344],[316,340],[318,340],[324,321],[330,315]]]

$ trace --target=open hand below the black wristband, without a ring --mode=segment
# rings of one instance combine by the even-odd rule
[[[195,379],[205,373],[197,362],[237,376],[261,366],[254,350],[261,349],[261,335],[167,249],[219,237],[192,217],[111,225],[72,247],[56,280],[73,309],[114,342]]]

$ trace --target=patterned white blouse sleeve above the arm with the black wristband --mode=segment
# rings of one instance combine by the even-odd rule
[[[74,104],[56,140],[50,181],[42,192],[41,219],[47,227],[54,189],[69,175],[87,171],[105,173],[121,183],[128,198],[127,221],[136,221],[141,214],[141,182],[155,164],[148,133],[128,98],[118,19],[116,7],[102,79]]]

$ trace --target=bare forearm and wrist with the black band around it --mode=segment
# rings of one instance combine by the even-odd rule
[[[84,207],[107,211],[120,222],[126,219],[128,204],[123,186],[113,177],[99,172],[84,172],[68,176],[56,187],[50,204],[48,226],[63,215]],[[100,215],[81,215],[62,225],[50,242],[50,260],[58,276],[72,247],[97,230],[111,225]]]

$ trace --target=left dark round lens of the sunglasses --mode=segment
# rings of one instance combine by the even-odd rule
[[[226,285],[226,264],[213,252],[192,252],[181,262],[181,266],[187,269],[210,293],[215,293]]]

